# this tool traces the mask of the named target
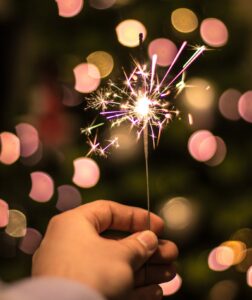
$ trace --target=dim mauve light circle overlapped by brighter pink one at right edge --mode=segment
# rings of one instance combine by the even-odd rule
[[[226,90],[219,99],[219,110],[223,117],[228,120],[237,121],[240,119],[238,101],[241,93],[236,89]]]

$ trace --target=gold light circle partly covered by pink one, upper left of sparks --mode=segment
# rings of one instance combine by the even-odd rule
[[[114,67],[113,57],[105,51],[95,51],[89,54],[87,62],[95,65],[99,69],[101,78],[108,76]]]

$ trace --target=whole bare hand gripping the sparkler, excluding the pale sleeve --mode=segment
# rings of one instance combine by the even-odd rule
[[[84,283],[107,299],[162,299],[158,283],[175,276],[178,250],[158,240],[162,219],[151,214],[152,231],[146,231],[146,218],[144,209],[105,200],[53,217],[33,256],[33,276]],[[109,238],[106,230],[130,235]]]

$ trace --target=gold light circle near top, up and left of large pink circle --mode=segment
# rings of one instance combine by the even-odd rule
[[[173,27],[182,33],[189,33],[198,27],[198,18],[196,14],[188,8],[175,9],[171,14]]]

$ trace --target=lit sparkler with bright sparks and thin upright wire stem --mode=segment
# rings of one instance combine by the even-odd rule
[[[125,81],[121,86],[110,81],[108,87],[92,94],[87,99],[87,109],[94,109],[106,121],[109,121],[110,127],[120,126],[127,123],[130,129],[135,129],[137,140],[143,137],[145,170],[146,170],[146,190],[147,190],[147,228],[150,229],[150,193],[149,193],[149,166],[148,166],[148,139],[152,140],[155,148],[161,137],[163,129],[174,117],[179,115],[170,98],[175,91],[177,96],[185,87],[184,74],[191,64],[206,50],[206,47],[198,46],[193,55],[183,65],[182,69],[172,79],[167,80],[170,73],[185,49],[187,42],[183,42],[173,62],[169,66],[163,78],[160,80],[157,74],[157,55],[153,55],[151,66],[134,61],[134,69],[127,75],[124,71]],[[141,36],[140,36],[141,46]],[[174,83],[180,78],[180,81],[174,86]],[[191,116],[189,116],[191,121]],[[88,136],[90,150],[87,156],[98,154],[106,156],[111,147],[119,147],[117,137],[107,141],[102,145],[98,141],[97,128],[105,124],[95,124],[95,121],[82,132]],[[90,136],[96,131],[93,140]]]

